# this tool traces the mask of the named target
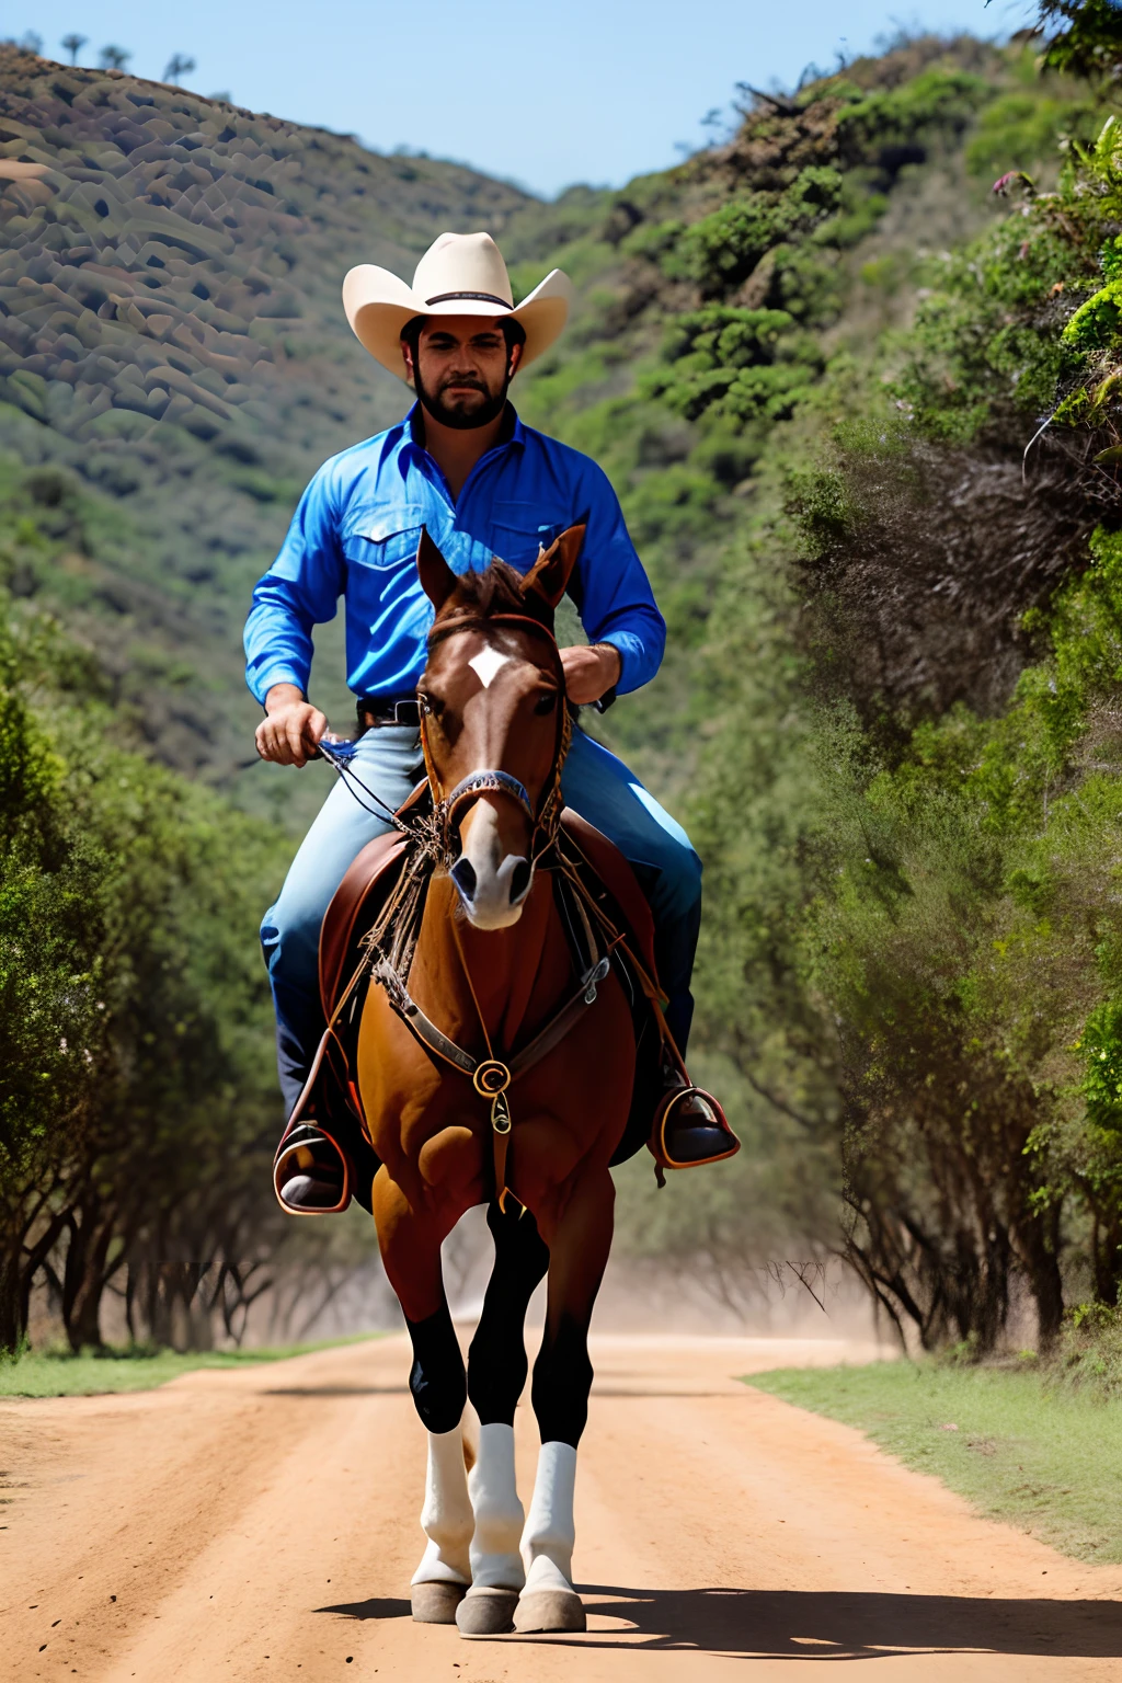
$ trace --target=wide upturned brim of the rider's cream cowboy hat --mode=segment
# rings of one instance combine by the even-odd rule
[[[414,316],[478,315],[495,320],[511,320],[521,325],[527,343],[521,367],[533,362],[560,335],[569,320],[572,281],[560,269],[552,269],[520,305],[490,303],[479,298],[447,298],[437,305],[417,298],[397,274],[380,269],[375,263],[360,263],[343,281],[343,310],[355,338],[365,345],[384,369],[405,379],[400,337]]]

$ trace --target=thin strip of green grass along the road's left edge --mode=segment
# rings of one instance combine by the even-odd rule
[[[0,1397],[99,1397],[118,1390],[155,1390],[195,1368],[242,1368],[259,1362],[286,1362],[313,1350],[360,1345],[380,1333],[357,1338],[328,1338],[315,1345],[278,1345],[271,1350],[160,1350],[133,1345],[124,1350],[30,1350],[15,1360],[0,1360]]]

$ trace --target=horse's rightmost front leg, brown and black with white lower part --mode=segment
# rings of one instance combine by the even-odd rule
[[[614,1203],[612,1176],[597,1166],[557,1220],[542,1222],[550,1247],[548,1299],[532,1392],[542,1449],[521,1538],[527,1584],[515,1609],[516,1631],[585,1629],[572,1587],[574,1489],[592,1388],[589,1325],[612,1244]]]

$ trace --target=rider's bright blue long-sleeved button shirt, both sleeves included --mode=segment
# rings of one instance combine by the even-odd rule
[[[340,596],[350,688],[404,695],[417,687],[432,624],[415,567],[422,527],[454,572],[483,571],[495,555],[528,572],[542,545],[587,520],[569,582],[580,623],[590,641],[619,650],[621,693],[653,678],[666,624],[606,473],[511,409],[503,441],[453,502],[414,439],[415,414],[414,404],[399,426],[331,456],[301,496],[246,621],[246,680],[257,700],[274,683],[308,692],[313,628],[335,618]]]

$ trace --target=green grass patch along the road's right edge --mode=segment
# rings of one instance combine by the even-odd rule
[[[1122,1402],[1024,1368],[876,1362],[747,1385],[866,1432],[994,1520],[1075,1560],[1122,1562]]]

